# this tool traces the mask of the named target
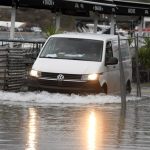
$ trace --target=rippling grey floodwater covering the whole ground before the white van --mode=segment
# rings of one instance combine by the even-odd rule
[[[150,98],[0,91],[0,150],[149,150]]]

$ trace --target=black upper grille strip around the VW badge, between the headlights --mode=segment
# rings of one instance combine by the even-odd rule
[[[57,76],[59,74],[62,74],[65,80],[72,80],[72,79],[81,80],[82,78],[82,75],[78,75],[78,74],[47,73],[47,72],[41,72],[41,77],[49,78],[49,79],[57,79]]]

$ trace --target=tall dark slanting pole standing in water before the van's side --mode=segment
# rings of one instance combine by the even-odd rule
[[[120,67],[120,90],[121,90],[121,106],[122,110],[126,110],[126,86],[125,86],[125,76],[124,76],[124,68],[122,63],[122,55],[121,55],[121,40],[118,35],[118,50],[119,50],[119,67]]]

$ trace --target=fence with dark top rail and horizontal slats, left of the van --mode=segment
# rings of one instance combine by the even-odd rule
[[[0,41],[0,89],[20,91],[44,41]],[[14,48],[9,47],[11,42]]]

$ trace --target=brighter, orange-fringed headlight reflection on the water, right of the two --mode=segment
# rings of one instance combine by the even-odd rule
[[[96,149],[96,116],[95,112],[91,112],[88,122],[88,150]]]

